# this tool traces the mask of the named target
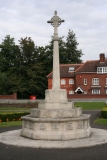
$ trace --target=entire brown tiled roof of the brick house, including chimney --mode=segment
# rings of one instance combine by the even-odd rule
[[[71,68],[71,71],[69,71],[69,67],[74,67],[74,70]],[[107,67],[107,59],[105,59],[104,54],[100,54],[99,60],[90,60],[81,64],[60,64],[60,77],[68,78],[74,77],[74,74],[79,73],[95,73],[97,72],[97,67]],[[52,72],[47,78],[52,78]]]

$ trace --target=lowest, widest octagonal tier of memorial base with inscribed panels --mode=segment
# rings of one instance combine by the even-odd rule
[[[89,115],[78,118],[22,117],[21,135],[37,140],[70,140],[89,137]]]

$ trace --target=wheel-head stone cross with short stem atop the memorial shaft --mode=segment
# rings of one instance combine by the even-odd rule
[[[54,37],[53,40],[58,40],[58,31],[57,31],[57,27],[61,24],[61,22],[64,22],[64,20],[61,20],[61,18],[59,18],[57,16],[57,11],[55,11],[54,16],[51,18],[50,21],[47,21],[47,23],[51,23],[51,25],[54,27]]]

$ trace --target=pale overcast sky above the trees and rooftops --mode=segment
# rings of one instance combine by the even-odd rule
[[[54,28],[47,21],[55,10],[65,20],[59,37],[73,30],[83,61],[107,56],[107,0],[0,0],[0,43],[10,35],[16,44],[27,36],[36,46],[48,45]]]

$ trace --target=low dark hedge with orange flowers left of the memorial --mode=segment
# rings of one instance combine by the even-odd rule
[[[28,114],[29,112],[0,114],[0,122],[21,121],[21,117]]]

